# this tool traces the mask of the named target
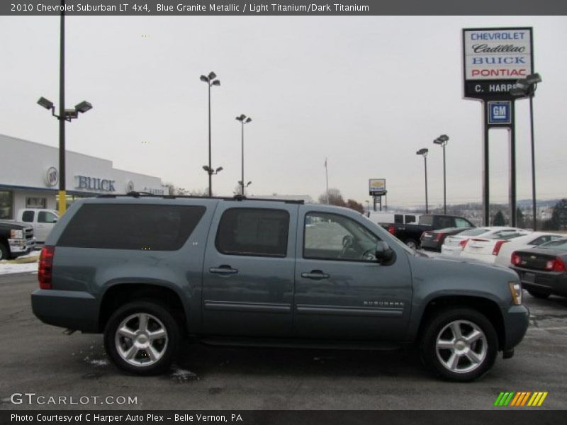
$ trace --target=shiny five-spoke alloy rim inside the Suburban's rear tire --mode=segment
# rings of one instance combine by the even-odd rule
[[[167,351],[167,330],[152,314],[126,317],[116,329],[116,351],[124,361],[137,367],[155,364]]]

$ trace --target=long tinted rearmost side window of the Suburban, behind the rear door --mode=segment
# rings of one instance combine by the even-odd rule
[[[193,205],[85,204],[64,229],[57,246],[175,251],[206,208]]]

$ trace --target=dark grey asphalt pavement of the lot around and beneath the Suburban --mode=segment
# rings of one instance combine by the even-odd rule
[[[412,351],[201,344],[186,344],[166,375],[141,378],[108,362],[100,335],[65,336],[36,319],[29,297],[36,287],[30,273],[0,276],[0,409],[494,409],[501,391],[547,391],[539,409],[567,407],[567,300],[559,297],[525,293],[532,319],[515,357],[498,358],[467,384],[432,378]],[[15,393],[45,396],[46,404],[28,404],[29,397],[13,404]],[[67,404],[49,397],[67,397]],[[135,404],[118,404],[128,397]]]

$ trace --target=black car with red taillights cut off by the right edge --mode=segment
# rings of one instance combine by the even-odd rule
[[[537,248],[514,251],[512,268],[522,286],[537,298],[567,297],[567,237],[546,242]]]

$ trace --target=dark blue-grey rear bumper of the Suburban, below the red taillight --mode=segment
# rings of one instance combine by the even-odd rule
[[[99,303],[89,293],[38,289],[31,294],[31,308],[43,323],[99,332]]]

